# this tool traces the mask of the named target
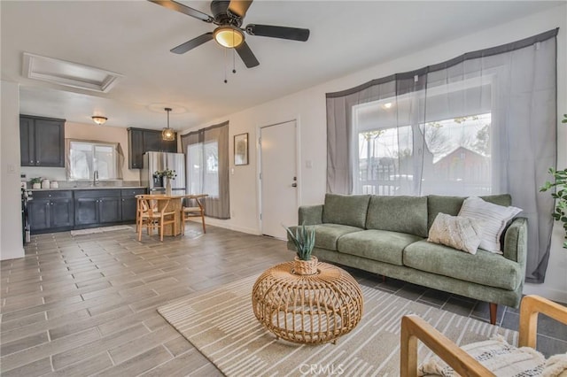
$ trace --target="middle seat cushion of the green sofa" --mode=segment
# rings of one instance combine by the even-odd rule
[[[423,238],[407,233],[371,229],[343,235],[338,240],[338,251],[392,265],[403,265],[402,251],[408,244],[419,240]]]

